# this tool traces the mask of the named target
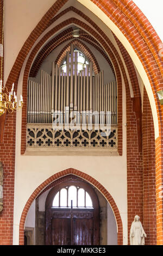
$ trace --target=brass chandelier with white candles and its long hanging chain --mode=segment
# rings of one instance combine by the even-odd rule
[[[17,102],[17,96],[14,91],[14,83],[12,84],[12,89],[8,92],[7,87],[2,86],[2,66],[3,66],[3,35],[4,35],[4,3],[3,3],[3,22],[2,22],[2,44],[1,46],[1,81],[0,81],[0,116],[5,112],[12,113],[16,111],[18,108],[22,108],[23,106],[23,97],[20,96],[19,103]],[[18,104],[17,104],[18,103]],[[18,105],[18,107],[17,107]]]

